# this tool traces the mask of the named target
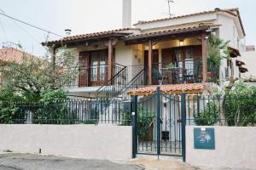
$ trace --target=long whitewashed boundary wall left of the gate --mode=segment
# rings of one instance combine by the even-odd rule
[[[132,127],[111,125],[0,125],[0,151],[89,159],[128,159]]]

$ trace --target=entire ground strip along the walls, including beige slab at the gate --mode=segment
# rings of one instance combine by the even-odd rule
[[[0,152],[0,170],[231,170],[229,167],[193,167],[175,156],[138,156],[107,161]],[[232,169],[244,170],[244,169]]]

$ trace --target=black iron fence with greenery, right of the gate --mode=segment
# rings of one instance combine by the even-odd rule
[[[256,95],[187,95],[187,125],[256,126]]]

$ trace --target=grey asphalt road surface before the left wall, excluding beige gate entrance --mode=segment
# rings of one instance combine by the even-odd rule
[[[0,170],[141,170],[142,166],[30,154],[0,154]]]

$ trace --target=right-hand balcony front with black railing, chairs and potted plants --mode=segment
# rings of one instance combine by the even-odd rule
[[[207,82],[218,82],[218,67],[208,63]],[[185,59],[152,64],[152,84],[198,83],[203,81],[202,60]],[[148,74],[146,74],[148,80]]]

